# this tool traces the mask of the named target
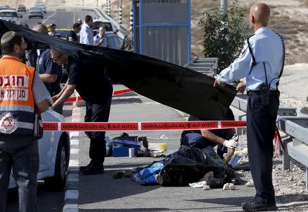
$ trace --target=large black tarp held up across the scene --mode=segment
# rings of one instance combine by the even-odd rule
[[[106,66],[112,80],[201,120],[222,119],[236,94],[233,86],[213,87],[214,78],[169,62],[128,51],[70,43],[0,20],[0,36],[10,30],[23,34],[27,49],[55,49],[79,60],[90,59],[97,71]]]

